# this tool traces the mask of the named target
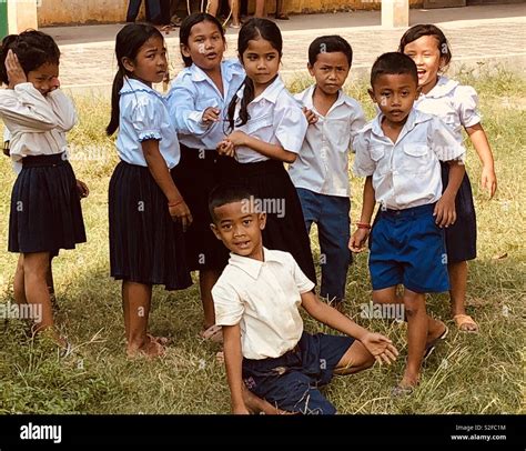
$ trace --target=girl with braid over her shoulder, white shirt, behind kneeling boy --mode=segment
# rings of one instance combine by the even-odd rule
[[[246,78],[229,108],[231,133],[218,149],[232,157],[225,180],[249,187],[266,212],[263,244],[290,252],[316,283],[302,207],[283,166],[295,161],[307,121],[277,73],[282,48],[280,29],[267,19],[241,28],[237,51]]]

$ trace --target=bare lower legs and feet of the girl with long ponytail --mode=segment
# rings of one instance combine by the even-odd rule
[[[143,283],[122,282],[122,308],[128,342],[128,355],[144,352],[149,357],[162,355],[161,343],[148,335],[148,320],[152,299],[152,287]]]

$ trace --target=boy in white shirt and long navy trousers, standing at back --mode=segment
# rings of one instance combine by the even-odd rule
[[[307,231],[313,222],[317,224],[320,295],[334,307],[345,299],[351,263],[348,151],[365,124],[360,103],[342,90],[352,61],[353,50],[340,36],[322,36],[308,47],[307,68],[316,82],[295,98],[310,126],[301,152],[289,168]]]

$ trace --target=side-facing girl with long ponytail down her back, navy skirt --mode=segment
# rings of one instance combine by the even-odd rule
[[[192,284],[183,231],[192,222],[171,170],[180,159],[164,98],[166,49],[151,26],[128,24],[117,36],[119,71],[113,81],[109,136],[119,129],[117,166],[109,192],[111,275],[122,280],[128,355],[159,357],[166,339],[148,333],[152,285]]]

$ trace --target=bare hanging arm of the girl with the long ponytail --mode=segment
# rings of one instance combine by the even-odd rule
[[[178,187],[175,187],[166,162],[159,151],[159,141],[154,139],[142,141],[142,152],[144,153],[150,173],[166,197],[170,216],[181,221],[183,231],[185,231],[192,223],[192,214]]]

